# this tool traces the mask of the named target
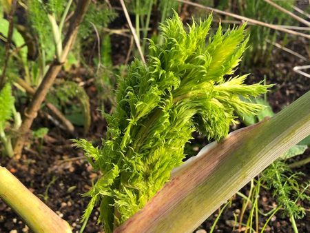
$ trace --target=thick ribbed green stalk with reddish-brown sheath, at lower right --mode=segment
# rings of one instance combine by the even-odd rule
[[[310,92],[271,119],[212,143],[115,232],[192,232],[220,205],[310,134]]]

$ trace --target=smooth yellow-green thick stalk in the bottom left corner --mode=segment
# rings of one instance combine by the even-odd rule
[[[30,192],[6,168],[0,166],[0,198],[35,233],[69,233],[70,225]]]

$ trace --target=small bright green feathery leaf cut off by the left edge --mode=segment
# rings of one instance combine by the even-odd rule
[[[14,97],[10,83],[6,83],[0,90],[0,130],[4,130],[6,121],[12,117],[12,106],[14,105]]]

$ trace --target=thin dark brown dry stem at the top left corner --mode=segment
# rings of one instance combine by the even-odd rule
[[[6,57],[4,59],[4,66],[3,71],[0,77],[0,90],[3,88],[4,84],[6,83],[6,70],[8,70],[8,62],[10,59],[10,46],[12,43],[12,35],[13,35],[13,29],[14,29],[14,12],[17,7],[17,0],[13,0],[11,3],[11,10],[10,14],[8,14],[8,21],[9,21],[9,28],[8,28],[8,39],[6,41]]]

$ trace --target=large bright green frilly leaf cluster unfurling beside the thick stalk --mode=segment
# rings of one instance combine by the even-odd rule
[[[161,25],[164,43],[150,42],[146,64],[134,61],[118,83],[117,106],[106,115],[107,138],[100,148],[75,140],[94,168],[102,172],[87,196],[87,218],[101,201],[105,232],[140,210],[169,180],[185,158],[184,146],[198,131],[219,141],[236,123],[235,110],[256,114],[262,105],[248,99],[267,92],[269,85],[245,85],[234,73],[246,48],[245,26],[206,37],[211,16],[192,23],[186,32],[174,14]]]

